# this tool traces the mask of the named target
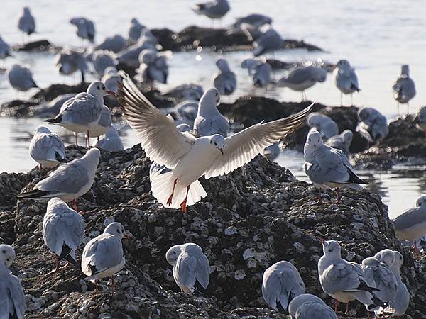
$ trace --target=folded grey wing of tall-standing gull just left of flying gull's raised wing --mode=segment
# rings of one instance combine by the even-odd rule
[[[102,112],[102,106],[91,94],[80,93],[66,103],[67,106],[61,114],[62,122],[88,125],[98,121]]]

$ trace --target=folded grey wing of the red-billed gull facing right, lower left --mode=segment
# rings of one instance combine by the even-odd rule
[[[82,254],[82,270],[90,276],[118,266],[123,260],[121,241],[109,234],[90,240]]]

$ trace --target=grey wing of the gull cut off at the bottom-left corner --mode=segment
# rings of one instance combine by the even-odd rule
[[[26,302],[21,281],[12,274],[6,274],[0,279],[0,318],[23,319],[25,311]]]

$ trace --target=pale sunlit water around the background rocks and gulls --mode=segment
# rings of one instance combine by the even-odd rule
[[[36,18],[38,33],[32,40],[46,38],[56,45],[80,47],[82,42],[68,21],[74,16],[87,16],[96,23],[97,41],[107,35],[125,35],[131,18],[137,17],[150,28],[167,27],[180,30],[190,24],[212,26],[202,16],[190,11],[190,6],[198,0],[163,1],[50,1],[50,0],[4,0],[0,11],[0,34],[11,45],[20,43],[23,38],[16,28],[16,18],[22,6],[31,6]],[[274,27],[284,38],[303,39],[324,48],[325,52],[305,52],[290,50],[275,52],[274,57],[287,62],[317,60],[322,58],[337,62],[346,58],[356,68],[362,91],[354,96],[358,106],[373,106],[386,114],[395,116],[396,106],[392,98],[391,85],[398,77],[400,65],[409,64],[411,76],[415,80],[417,96],[410,103],[413,112],[426,101],[426,67],[423,53],[426,52],[426,21],[424,2],[410,1],[401,5],[400,1],[275,1],[275,0],[230,0],[231,11],[223,20],[224,26],[235,17],[249,13],[264,13],[273,18]],[[216,23],[219,26],[219,22]],[[226,53],[231,68],[236,72],[239,89],[231,96],[251,94],[250,79],[246,70],[239,65],[250,52]],[[175,53],[170,60],[169,83],[160,86],[161,90],[178,84],[193,82],[204,87],[212,84],[214,60],[217,54],[202,52]],[[9,67],[21,62],[31,67],[35,81],[39,86],[52,83],[75,84],[80,78],[62,77],[54,67],[54,56],[47,53],[18,53],[13,58],[1,61],[1,67]],[[278,79],[283,72],[276,72]],[[89,78],[90,79],[90,78]],[[34,94],[30,91],[21,94],[25,98]],[[288,89],[257,89],[256,94],[270,96],[280,101],[299,101],[300,94]],[[312,101],[327,105],[339,105],[340,94],[334,87],[330,75],[326,82],[307,91]],[[17,97],[0,73],[0,101],[9,101]],[[227,98],[225,98],[227,99]],[[226,101],[226,100],[225,100]],[[344,103],[349,103],[346,97]],[[404,108],[403,108],[404,109]],[[28,143],[34,128],[40,125],[40,119],[0,119],[0,156],[1,170],[7,172],[25,172],[35,163],[28,157]],[[53,128],[64,136],[65,130]],[[131,130],[122,132],[124,145],[131,147],[137,142]],[[70,136],[65,142],[72,142]],[[83,142],[83,141],[82,141]],[[94,141],[93,141],[94,142]],[[278,162],[289,167],[300,179],[306,179],[301,171],[302,155],[286,152]],[[391,172],[361,172],[363,176],[374,180],[373,191],[383,196],[389,206],[390,216],[397,216],[404,209],[413,206],[415,198],[425,186],[422,167],[398,167]]]

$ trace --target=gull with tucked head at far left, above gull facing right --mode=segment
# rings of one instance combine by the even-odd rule
[[[45,126],[38,126],[30,143],[30,156],[40,164],[40,169],[55,167],[65,159],[64,142]]]

